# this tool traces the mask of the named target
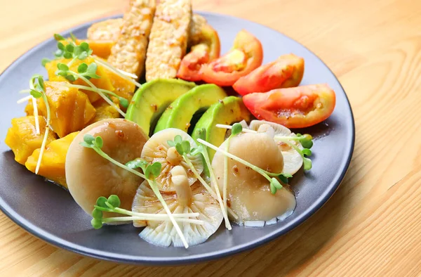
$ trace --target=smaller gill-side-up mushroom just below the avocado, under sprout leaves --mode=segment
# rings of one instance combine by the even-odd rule
[[[147,162],[161,162],[162,170],[161,174],[156,178],[158,183],[159,191],[163,191],[166,193],[173,193],[175,192],[173,181],[171,181],[171,169],[177,165],[181,165],[187,171],[187,176],[189,177],[189,184],[192,184],[196,181],[196,177],[194,176],[192,170],[187,165],[187,163],[182,159],[182,157],[175,153],[175,155],[179,155],[178,161],[175,163],[171,163],[167,159],[168,149],[171,146],[168,145],[168,141],[174,141],[174,137],[180,135],[184,141],[189,141],[190,148],[196,148],[196,142],[192,139],[189,134],[185,131],[175,128],[168,128],[162,131],[156,132],[147,143],[142,150],[142,159],[146,160]],[[203,162],[201,160],[200,155],[192,156],[187,155],[189,159],[192,161],[194,168],[201,174],[203,172]]]

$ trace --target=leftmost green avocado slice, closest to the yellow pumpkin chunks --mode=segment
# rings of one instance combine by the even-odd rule
[[[168,105],[194,86],[193,82],[180,79],[155,79],[142,84],[128,105],[126,120],[136,122],[145,134],[149,134],[151,125],[153,127]]]

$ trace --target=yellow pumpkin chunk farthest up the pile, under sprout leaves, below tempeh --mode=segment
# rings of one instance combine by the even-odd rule
[[[50,80],[54,80],[54,81],[66,81],[67,80],[64,77],[60,77],[55,75],[55,72],[58,70],[57,65],[58,63],[65,63],[66,65],[71,61],[71,59],[58,59],[58,60],[51,60],[50,63],[46,63],[46,70],[48,72],[48,79]],[[72,63],[72,65],[70,65],[69,70],[73,71],[73,72],[77,72],[77,67],[79,67],[79,65],[81,65],[81,63],[86,63],[87,65],[90,65],[91,63],[94,63],[95,60],[92,57],[88,57],[84,60],[79,60],[76,59],[74,61],[74,63]],[[97,63],[98,65],[98,63]],[[90,79],[89,81],[94,84],[96,87],[98,87],[98,89],[106,89],[107,91],[114,91],[114,86],[112,86],[112,83],[107,75],[107,73],[105,72],[105,68],[98,65],[96,74],[98,76],[100,76],[100,79]],[[73,84],[79,84],[79,85],[83,85],[83,86],[89,86],[88,84],[86,84],[86,82],[84,82],[82,79],[76,79],[75,82],[73,82]],[[83,91],[83,93],[85,93],[88,98],[89,101],[91,101],[91,103],[94,103],[95,101],[98,101],[98,99],[101,98],[101,96],[99,94],[97,94],[96,92],[93,91],[86,91],[86,90],[81,90]]]

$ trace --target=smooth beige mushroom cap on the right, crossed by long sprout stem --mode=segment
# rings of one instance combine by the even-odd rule
[[[220,146],[222,150],[225,150],[226,143]],[[232,137],[229,153],[268,172],[281,172],[283,169],[281,150],[265,133],[243,133]],[[217,152],[212,161],[220,191],[224,179],[224,157]],[[273,195],[265,177],[231,158],[228,158],[227,198],[229,207],[239,217],[233,220],[239,224],[244,221],[269,221],[295,209],[295,197],[287,188],[281,188]]]

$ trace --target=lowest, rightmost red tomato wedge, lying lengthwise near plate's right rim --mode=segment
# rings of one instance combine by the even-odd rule
[[[259,120],[287,128],[305,128],[326,120],[335,109],[335,91],[312,84],[243,96],[244,105]]]

